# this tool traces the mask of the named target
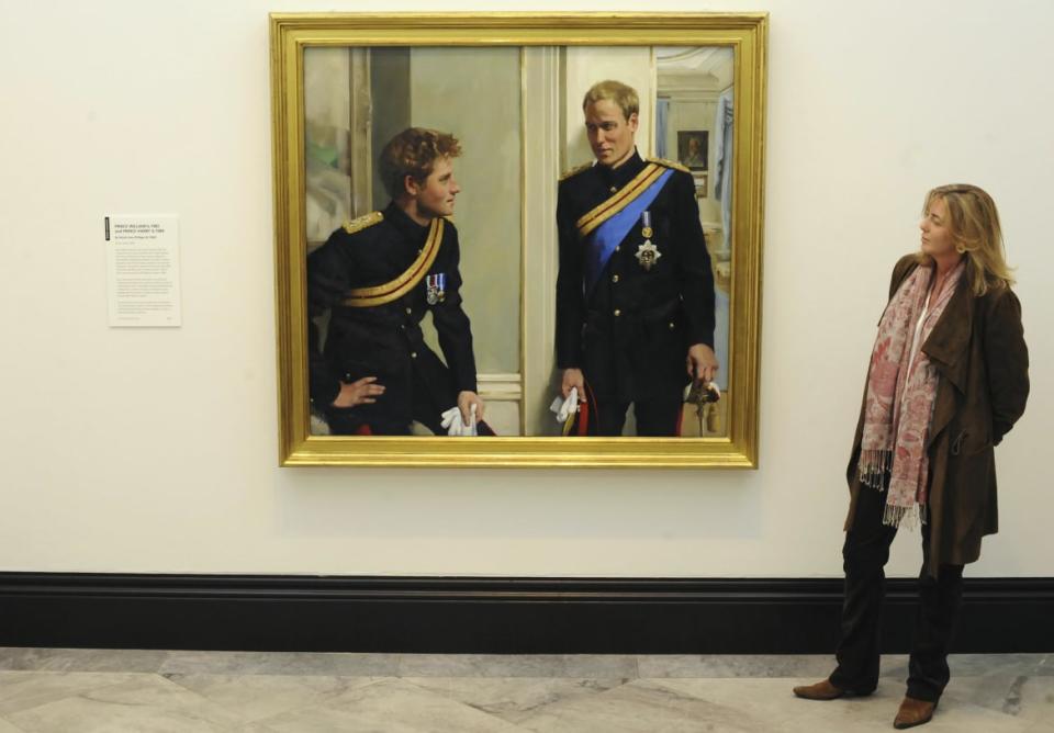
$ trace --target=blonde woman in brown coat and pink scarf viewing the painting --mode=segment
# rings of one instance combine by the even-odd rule
[[[874,691],[883,567],[897,528],[918,520],[920,607],[897,729],[928,722],[948,685],[963,565],[998,529],[993,447],[1029,395],[1021,305],[991,196],[974,185],[933,189],[919,227],[921,251],[893,271],[846,472],[838,667],[794,688],[810,700]]]

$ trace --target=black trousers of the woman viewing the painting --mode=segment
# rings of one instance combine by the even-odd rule
[[[845,598],[842,605],[838,667],[830,681],[838,688],[866,695],[878,685],[878,650],[884,567],[897,530],[882,523],[886,492],[860,487],[856,515],[842,545]],[[919,609],[908,665],[909,697],[935,702],[948,685],[948,647],[963,598],[963,566],[941,565],[938,577],[927,571],[929,525],[922,525],[922,572]]]

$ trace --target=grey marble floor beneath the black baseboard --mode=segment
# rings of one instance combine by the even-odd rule
[[[868,698],[790,688],[830,656],[416,655],[0,647],[0,733],[887,731]],[[1054,654],[958,655],[929,733],[1054,733]]]

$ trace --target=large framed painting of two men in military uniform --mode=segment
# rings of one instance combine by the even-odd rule
[[[272,14],[280,462],[755,466],[766,31]]]

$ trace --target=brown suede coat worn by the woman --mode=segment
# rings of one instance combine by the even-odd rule
[[[900,258],[889,283],[890,298],[917,267],[915,255]],[[1029,396],[1029,351],[1021,328],[1021,304],[1009,287],[975,297],[964,279],[922,351],[940,373],[928,440],[927,570],[935,576],[942,564],[976,561],[980,539],[999,529],[993,448],[1021,417]],[[866,396],[866,383],[864,393]],[[860,483],[857,472],[863,429],[861,405],[845,473],[851,496],[846,530],[859,492],[875,490]]]

